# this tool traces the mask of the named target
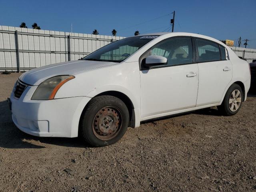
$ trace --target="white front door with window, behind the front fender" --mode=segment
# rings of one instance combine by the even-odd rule
[[[194,108],[198,92],[198,64],[193,63],[192,39],[168,38],[154,45],[144,55],[164,56],[167,65],[148,69],[141,66],[142,120]]]

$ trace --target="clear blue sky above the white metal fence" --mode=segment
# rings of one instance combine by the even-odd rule
[[[73,32],[111,35],[116,29],[117,36],[132,36],[136,30],[162,32],[173,10],[175,32],[235,41],[241,36],[256,48],[256,0],[1,0],[0,25],[25,22],[31,28],[36,22],[41,29],[69,32],[72,22]]]

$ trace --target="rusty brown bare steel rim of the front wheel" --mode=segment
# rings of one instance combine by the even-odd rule
[[[115,106],[106,106],[94,116],[92,130],[100,140],[111,140],[122,127],[122,113]]]

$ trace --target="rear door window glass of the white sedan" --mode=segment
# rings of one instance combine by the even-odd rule
[[[196,39],[198,62],[221,60],[219,45],[207,40]]]

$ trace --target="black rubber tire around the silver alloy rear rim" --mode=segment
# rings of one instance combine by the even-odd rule
[[[229,100],[231,97],[232,92],[234,92],[234,90],[239,90],[241,93],[241,102],[238,106],[238,108],[235,111],[232,111],[230,109],[230,104],[229,104]],[[226,95],[222,101],[222,104],[220,106],[218,106],[218,110],[220,110],[220,112],[222,113],[222,115],[224,116],[232,116],[238,113],[238,111],[240,110],[241,106],[242,106],[242,102],[243,102],[243,91],[242,88],[238,85],[238,84],[232,84],[230,86],[230,88],[228,88],[228,91],[226,92]],[[231,103],[232,105],[232,103]]]

